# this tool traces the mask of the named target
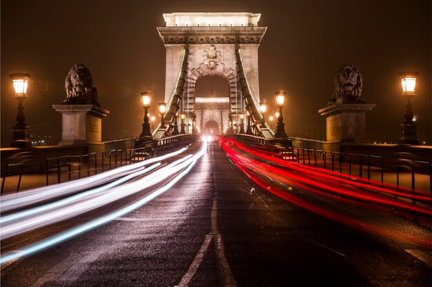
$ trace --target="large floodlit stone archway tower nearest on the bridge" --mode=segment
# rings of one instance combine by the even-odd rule
[[[237,72],[238,50],[242,50],[242,72],[246,72],[247,77],[242,80],[248,83],[248,94],[259,103],[258,47],[266,32],[266,27],[258,26],[260,16],[248,12],[164,14],[166,26],[157,30],[166,47],[165,101],[170,103],[173,95],[177,95],[173,89],[177,89],[180,80],[180,110],[186,113],[187,125],[197,120],[195,86],[207,75],[219,75],[228,83],[229,108],[227,115],[222,115],[223,121],[239,121],[238,113],[245,107]],[[183,56],[185,51],[187,59]],[[183,72],[180,67],[185,63]],[[257,117],[261,116],[257,114]]]

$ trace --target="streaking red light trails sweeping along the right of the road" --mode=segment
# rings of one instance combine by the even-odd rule
[[[336,174],[329,170],[304,166],[294,161],[286,161],[269,155],[270,152],[259,152],[256,149],[248,148],[233,139],[219,137],[217,141],[219,141],[226,154],[246,176],[261,188],[282,199],[291,201],[297,206],[333,221],[352,226],[353,228],[385,235],[390,238],[399,238],[406,242],[416,242],[426,246],[432,245],[429,237],[416,234],[416,232],[411,232],[411,234],[409,232],[400,232],[395,230],[394,226],[393,228],[389,224],[386,226],[385,219],[382,219],[381,222],[365,216],[367,212],[385,212],[389,208],[384,207],[388,206],[408,212],[418,212],[419,214],[426,215],[426,217],[431,217],[432,210],[429,206],[416,205],[401,199],[394,199],[382,195],[382,192],[400,195],[409,199],[417,199],[427,203],[430,203],[431,197],[396,192],[389,189],[395,188],[395,186],[384,184],[383,186],[386,186],[384,188],[381,187],[381,182],[369,181],[367,179],[354,177],[355,181],[352,181],[346,179],[353,178],[351,175],[344,175],[340,172]],[[257,157],[258,160],[254,159],[254,157]],[[273,166],[272,164],[277,166]],[[335,173],[337,176],[331,175],[330,172]],[[290,187],[282,188],[281,186],[284,185],[290,185]],[[308,192],[308,196],[325,198],[330,201],[329,204],[332,204],[332,206],[328,206],[328,203],[327,206],[326,204],[322,204],[322,200],[320,201],[320,205],[315,204],[313,200],[310,200],[313,199],[311,196],[303,195],[304,198],[302,198],[302,192],[296,192],[291,186]],[[344,207],[346,204],[350,205],[349,208]],[[351,210],[353,206],[357,210]],[[361,215],[361,212],[364,212],[364,215]]]

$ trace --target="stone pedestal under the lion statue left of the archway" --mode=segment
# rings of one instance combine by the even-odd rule
[[[52,105],[61,113],[59,146],[88,145],[89,152],[104,150],[102,119],[108,110],[94,105]]]

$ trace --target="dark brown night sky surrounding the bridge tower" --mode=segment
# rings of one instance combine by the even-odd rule
[[[27,72],[26,123],[57,144],[61,116],[52,109],[66,98],[64,79],[75,63],[92,72],[99,101],[111,115],[103,140],[141,132],[139,92],[164,100],[165,48],[157,33],[163,12],[259,12],[268,27],[259,46],[259,87],[275,111],[274,92],[287,92],[284,119],[290,136],[325,139],[324,108],[335,73],[354,63],[362,95],[376,103],[366,121],[372,141],[396,142],[404,121],[399,72],[420,72],[418,137],[431,144],[431,1],[1,1],[1,146],[12,140],[17,101],[9,75]],[[207,81],[208,82],[208,81]],[[211,90],[208,89],[208,93]]]

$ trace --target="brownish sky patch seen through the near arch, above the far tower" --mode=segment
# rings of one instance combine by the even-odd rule
[[[199,78],[195,87],[195,97],[229,97],[228,81],[219,75],[206,75]]]

